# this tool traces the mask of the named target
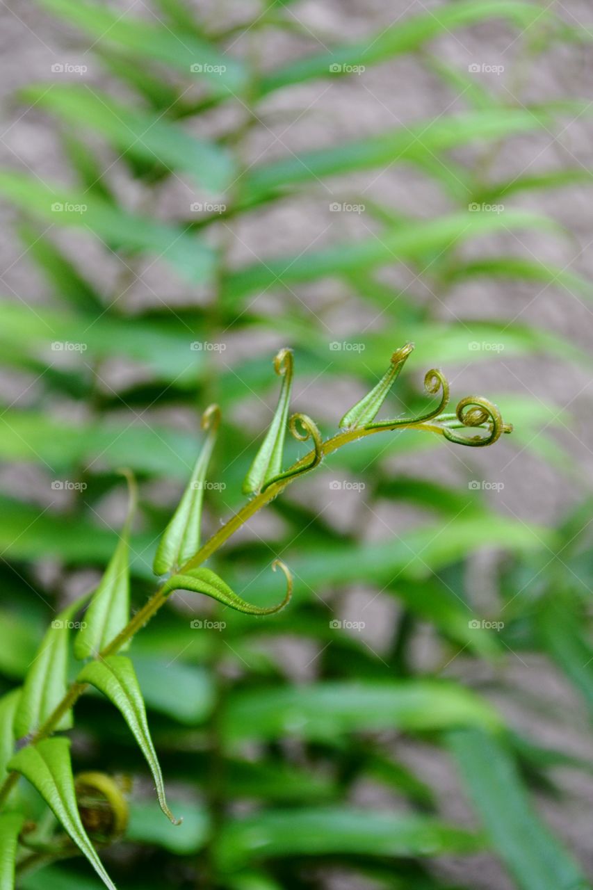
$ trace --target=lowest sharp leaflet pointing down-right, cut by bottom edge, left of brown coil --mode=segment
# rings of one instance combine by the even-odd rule
[[[12,757],[9,769],[21,773],[37,789],[103,883],[117,890],[102,866],[80,819],[70,763],[69,739],[45,739]]]

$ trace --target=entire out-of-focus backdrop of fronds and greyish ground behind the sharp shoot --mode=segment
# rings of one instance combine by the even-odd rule
[[[408,341],[383,417],[420,413],[438,367],[453,408],[481,394],[515,427],[486,449],[353,445],[216,557],[262,603],[288,562],[280,619],[200,630],[211,612],[185,595],[138,635],[191,818],[182,840],[142,820],[134,748],[83,701],[81,765],[139,773],[106,854],[118,886],[588,886],[588,4],[10,0],[0,17],[6,688],[100,577],[122,465],[141,487],[134,602],[150,593],[210,401],[205,533],[239,508],[281,346],[324,434]],[[502,716],[493,749],[466,692]],[[395,842],[396,813],[428,822]]]

